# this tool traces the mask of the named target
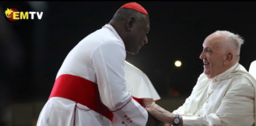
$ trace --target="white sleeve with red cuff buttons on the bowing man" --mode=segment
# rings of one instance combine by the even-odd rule
[[[101,101],[127,125],[145,125],[147,111],[131,97],[126,89],[124,61],[126,51],[120,42],[101,44],[92,53]]]

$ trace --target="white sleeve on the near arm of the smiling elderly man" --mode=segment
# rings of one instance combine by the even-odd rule
[[[188,102],[186,101],[185,104]],[[179,113],[179,110],[185,107],[174,112]],[[253,124],[254,88],[245,80],[232,82],[216,113],[201,117],[183,117],[184,126],[251,126]]]

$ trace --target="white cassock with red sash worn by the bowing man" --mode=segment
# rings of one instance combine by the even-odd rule
[[[114,115],[144,126],[148,113],[127,91],[125,58],[125,45],[111,24],[82,39],[59,69],[37,126],[111,126]]]

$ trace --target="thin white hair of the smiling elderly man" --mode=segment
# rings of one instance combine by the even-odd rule
[[[230,31],[215,31],[214,34],[227,35],[228,39],[231,39],[229,42],[233,45],[236,55],[239,56],[241,45],[244,43],[244,40],[240,35],[234,34]]]

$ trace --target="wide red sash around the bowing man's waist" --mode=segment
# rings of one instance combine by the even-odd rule
[[[78,102],[107,117],[109,120],[113,120],[114,114],[100,102],[97,83],[85,80],[79,76],[68,74],[58,76],[48,100],[52,97],[67,98]]]

